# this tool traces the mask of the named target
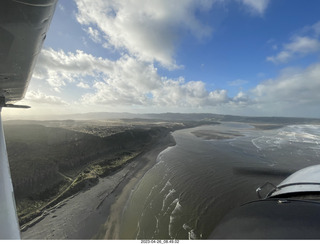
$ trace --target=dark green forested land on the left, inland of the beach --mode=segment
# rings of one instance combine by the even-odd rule
[[[97,131],[95,135],[80,132],[83,126],[70,130],[52,121],[50,127],[45,122],[6,122],[4,130],[20,225],[41,218],[47,208],[97,184],[100,177],[121,169],[161,136],[186,126],[148,126],[146,121],[144,126],[124,123],[122,130],[117,126],[117,132],[111,134],[103,134],[101,125],[97,130],[96,125],[88,129],[85,124],[86,130]],[[107,125],[105,129],[115,131]]]

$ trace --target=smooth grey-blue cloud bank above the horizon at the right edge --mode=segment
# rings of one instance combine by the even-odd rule
[[[286,68],[249,91],[220,103],[218,113],[253,116],[319,117],[320,63],[306,69]]]

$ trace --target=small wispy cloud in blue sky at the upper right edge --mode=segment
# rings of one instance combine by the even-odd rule
[[[320,51],[320,22],[312,26],[307,26],[299,34],[291,37],[290,42],[283,44],[282,50],[267,57],[267,61],[273,63],[286,63],[296,57],[317,53]]]

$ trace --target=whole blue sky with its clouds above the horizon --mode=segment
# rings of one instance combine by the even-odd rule
[[[59,0],[8,117],[88,112],[320,118],[318,0]]]

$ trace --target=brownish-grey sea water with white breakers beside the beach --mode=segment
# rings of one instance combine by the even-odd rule
[[[319,125],[257,130],[230,122],[172,135],[176,145],[131,192],[121,239],[206,239],[231,209],[257,200],[259,186],[320,162]]]

